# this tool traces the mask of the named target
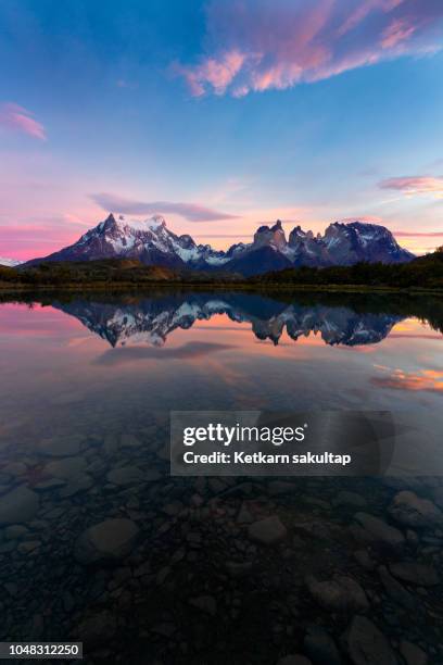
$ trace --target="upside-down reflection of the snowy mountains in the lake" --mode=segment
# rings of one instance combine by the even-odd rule
[[[244,293],[186,293],[162,298],[130,298],[127,302],[74,300],[53,303],[76,316],[89,330],[112,347],[149,343],[163,346],[175,329],[188,329],[198,321],[217,314],[236,323],[250,323],[257,339],[278,344],[284,330],[294,341],[320,334],[327,344],[349,347],[370,344],[384,339],[401,315],[355,312],[351,306],[318,303],[291,304]]]

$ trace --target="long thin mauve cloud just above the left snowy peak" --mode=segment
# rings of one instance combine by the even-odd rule
[[[126,215],[180,215],[189,222],[215,222],[219,219],[237,219],[237,215],[205,208],[198,203],[180,203],[173,201],[137,201],[118,197],[112,193],[100,192],[90,195],[92,201],[106,212],[123,213]]]

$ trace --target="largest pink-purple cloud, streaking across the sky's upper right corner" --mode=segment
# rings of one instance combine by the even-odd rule
[[[441,0],[213,0],[205,53],[173,67],[195,97],[286,89],[434,52],[442,45],[442,17]]]

